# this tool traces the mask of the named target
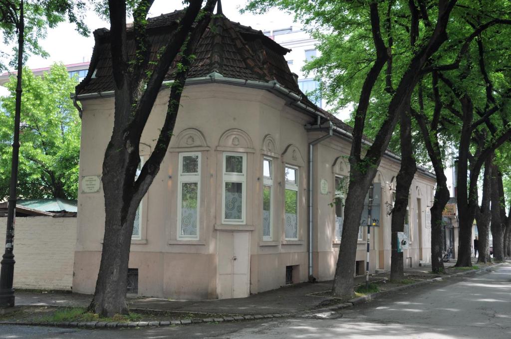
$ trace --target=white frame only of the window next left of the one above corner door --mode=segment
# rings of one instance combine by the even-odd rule
[[[197,173],[183,174],[183,158],[187,156],[197,156]],[[201,153],[200,152],[180,152],[178,158],[178,175],[177,175],[177,220],[176,220],[176,239],[177,240],[199,240],[200,239],[200,181],[201,181]],[[182,218],[182,183],[197,183],[197,235],[181,235],[181,218]]]

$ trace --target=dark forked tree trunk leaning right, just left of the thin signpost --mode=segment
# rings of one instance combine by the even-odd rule
[[[378,4],[371,2],[370,22],[371,33],[376,48],[377,58],[370,68],[364,80],[360,95],[359,105],[355,113],[355,127],[353,131],[353,142],[350,152],[350,187],[346,198],[344,211],[342,240],[337,259],[334,275],[333,293],[342,297],[351,297],[354,293],[353,276],[355,270],[355,257],[357,251],[357,234],[360,226],[364,197],[369,185],[376,175],[376,170],[381,158],[385,153],[390,137],[397,119],[401,112],[408,109],[409,100],[415,85],[421,77],[421,70],[429,58],[438,50],[440,45],[447,40],[446,28],[449,21],[454,2],[440,1],[438,3],[437,22],[431,35],[415,49],[413,57],[400,78],[399,85],[392,94],[387,116],[378,131],[374,143],[369,147],[367,153],[361,157],[361,146],[367,107],[371,98],[371,90],[387,61],[389,52],[381,37],[380,17]],[[412,25],[418,25],[415,21],[418,17],[412,18]],[[391,50],[391,49],[390,49]]]

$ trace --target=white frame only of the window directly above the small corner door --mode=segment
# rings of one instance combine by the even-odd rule
[[[227,156],[241,156],[242,157],[242,172],[243,173],[230,173],[226,172],[226,158]],[[241,220],[226,219],[225,218],[225,183],[238,182],[242,184],[242,209]],[[222,224],[225,225],[246,225],[246,210],[247,210],[247,154],[244,152],[223,152],[222,153]]]

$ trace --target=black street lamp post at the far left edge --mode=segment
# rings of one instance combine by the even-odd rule
[[[19,159],[19,120],[21,114],[21,70],[23,65],[23,43],[25,21],[23,17],[23,0],[19,5],[18,29],[18,74],[16,84],[16,108],[14,113],[14,139],[12,142],[11,183],[9,187],[9,206],[7,211],[7,231],[5,237],[5,253],[2,257],[0,270],[0,308],[14,306],[14,222],[16,216],[16,185],[18,182]]]

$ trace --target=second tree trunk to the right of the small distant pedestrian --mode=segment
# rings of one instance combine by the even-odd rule
[[[493,155],[491,157],[493,159]],[[504,260],[504,228],[501,220],[501,205],[499,196],[498,167],[492,161],[492,224],[493,258]],[[502,180],[502,177],[501,177]]]

